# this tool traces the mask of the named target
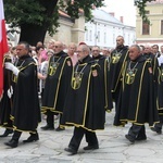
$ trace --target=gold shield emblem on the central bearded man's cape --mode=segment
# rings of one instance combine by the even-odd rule
[[[83,73],[80,73],[80,72],[74,73],[74,77],[72,79],[72,88],[73,89],[78,89],[80,87],[82,78],[83,78]]]

